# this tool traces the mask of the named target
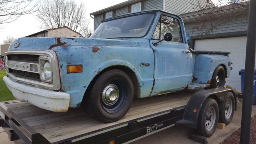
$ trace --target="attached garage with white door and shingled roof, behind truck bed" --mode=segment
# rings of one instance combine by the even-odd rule
[[[242,2],[240,4],[246,4]],[[232,60],[233,70],[229,78],[226,80],[226,85],[230,85],[237,90],[241,90],[241,80],[239,71],[245,68],[245,53],[246,53],[246,36],[248,27],[248,12],[241,13],[241,6],[239,4],[231,4],[230,6],[220,7],[215,15],[226,18],[227,12],[232,12],[236,16],[232,16],[230,20],[224,22],[221,26],[214,29],[212,32],[206,32],[213,24],[219,24],[219,21],[206,20],[206,28],[198,30],[204,20],[200,18],[208,18],[206,13],[211,9],[200,10],[197,12],[190,12],[181,14],[183,19],[186,34],[192,36],[190,40],[190,48],[194,50],[211,50],[211,51],[228,51]],[[198,22],[198,20],[200,20]]]

